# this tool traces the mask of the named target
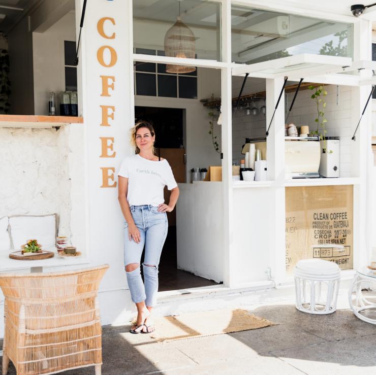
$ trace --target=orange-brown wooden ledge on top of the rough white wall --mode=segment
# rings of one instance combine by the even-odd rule
[[[0,115],[0,127],[50,128],[82,123],[83,117],[77,116]]]

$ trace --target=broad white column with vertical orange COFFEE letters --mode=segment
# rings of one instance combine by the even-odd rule
[[[82,5],[83,0],[76,0],[78,12]],[[78,25],[80,17],[79,14]],[[91,0],[87,2],[81,34],[79,87],[87,160],[88,253],[93,263],[110,264],[101,283],[101,290],[106,290],[100,294],[103,324],[124,321],[131,308],[123,267],[123,218],[117,200],[118,168],[123,157],[132,152],[129,142],[129,128],[134,124],[130,20],[131,1]]]

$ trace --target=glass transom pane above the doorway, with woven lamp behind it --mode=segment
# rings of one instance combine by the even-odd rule
[[[184,39],[174,43],[178,41],[179,33],[170,31],[177,21],[179,6]],[[165,51],[167,32],[169,45],[176,44],[170,52]],[[190,57],[189,54],[195,56],[196,53],[197,58],[221,61],[221,3],[207,0],[134,1],[133,45],[165,51],[168,56],[184,52]],[[141,53],[137,50],[136,53]]]

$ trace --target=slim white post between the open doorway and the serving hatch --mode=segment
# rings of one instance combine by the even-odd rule
[[[222,3],[222,61],[228,66],[221,70],[222,112],[222,185],[224,267],[223,283],[232,286],[235,259],[233,259],[233,208],[232,208],[232,104],[231,104],[231,1]]]

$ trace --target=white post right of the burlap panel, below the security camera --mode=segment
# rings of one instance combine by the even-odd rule
[[[371,23],[360,19],[354,23],[354,60],[371,59]],[[361,72],[366,75],[367,72]],[[369,73],[368,73],[369,74]],[[352,88],[352,123],[353,131],[362,114],[371,86]],[[351,134],[352,135],[352,134]],[[352,174],[359,177],[359,185],[354,186],[354,268],[368,263],[371,254],[371,165],[373,165],[372,150],[371,105],[360,122],[355,141],[351,141]]]

